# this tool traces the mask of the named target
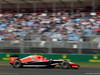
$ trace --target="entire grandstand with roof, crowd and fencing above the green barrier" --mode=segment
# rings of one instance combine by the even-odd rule
[[[99,0],[1,0],[0,50],[100,54]]]

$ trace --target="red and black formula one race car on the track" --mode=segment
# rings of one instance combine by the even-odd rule
[[[18,57],[18,55],[10,56],[10,64],[13,65],[14,68],[20,68],[23,67],[23,65],[46,65],[48,68],[59,66],[62,69],[79,68],[79,65],[75,63],[66,60],[48,60],[47,58],[43,58],[42,55],[31,55],[22,59],[18,59]]]

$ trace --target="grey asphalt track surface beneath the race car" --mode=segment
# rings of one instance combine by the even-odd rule
[[[79,69],[61,68],[13,68],[11,65],[0,65],[0,75],[100,75],[100,67],[80,67]]]

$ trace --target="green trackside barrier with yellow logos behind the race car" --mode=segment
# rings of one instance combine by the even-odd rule
[[[29,55],[41,54],[0,54],[0,60],[9,60],[10,55],[19,55],[19,59]],[[100,62],[100,55],[42,54],[48,59],[67,60],[70,62]]]

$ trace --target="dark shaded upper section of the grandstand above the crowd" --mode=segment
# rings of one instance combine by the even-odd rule
[[[98,11],[100,0],[1,0],[1,12],[43,12],[46,10],[56,11],[59,9],[73,12]],[[12,10],[13,9],[13,10]],[[78,11],[77,10],[77,11]],[[8,11],[8,12],[7,12]],[[99,11],[98,11],[99,12]]]

